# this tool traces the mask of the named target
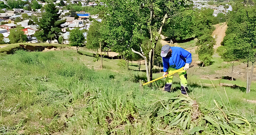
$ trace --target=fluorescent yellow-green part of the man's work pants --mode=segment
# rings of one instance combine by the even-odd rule
[[[170,68],[168,69],[168,72],[170,73],[171,71],[177,70],[175,68]],[[178,72],[179,77],[180,77],[180,82],[181,82],[181,86],[183,87],[187,87],[187,71],[182,70],[180,72]],[[170,75],[168,77],[165,78],[165,82],[166,84],[172,84],[172,79],[173,79],[173,75]]]

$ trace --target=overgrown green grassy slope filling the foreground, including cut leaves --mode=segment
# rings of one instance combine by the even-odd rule
[[[70,56],[63,57],[62,51],[16,51],[0,57],[1,134],[254,134],[256,131],[256,107],[242,99],[246,95],[237,96],[239,90],[227,89],[229,104],[222,89],[218,89],[220,98],[213,88],[202,90],[200,85],[191,85],[189,98],[180,95],[180,91],[166,93],[157,87],[141,87],[137,83],[139,72],[92,70]]]

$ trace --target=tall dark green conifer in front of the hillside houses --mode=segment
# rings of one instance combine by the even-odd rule
[[[56,5],[53,3],[46,4],[44,6],[44,10],[42,11],[42,17],[39,19],[33,18],[33,20],[39,26],[39,30],[43,31],[43,36],[46,37],[47,40],[51,40],[51,36],[54,35],[54,38],[59,42],[58,39],[62,33],[61,24],[65,23],[66,20],[59,20],[59,9],[57,9],[55,6]],[[42,33],[38,35],[41,36],[41,34]]]

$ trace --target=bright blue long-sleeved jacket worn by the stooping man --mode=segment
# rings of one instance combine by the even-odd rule
[[[191,64],[192,57],[190,52],[180,47],[170,48],[172,49],[172,54],[170,56],[162,57],[164,72],[166,72],[169,67],[180,69],[184,67],[186,63]]]

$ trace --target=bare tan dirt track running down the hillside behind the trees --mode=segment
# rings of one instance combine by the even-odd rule
[[[226,23],[220,23],[220,24],[216,24],[215,26],[215,30],[212,33],[212,37],[215,38],[216,41],[216,45],[213,47],[218,48],[220,46],[220,43],[223,41],[223,38],[225,37],[225,32],[227,30],[227,24]]]

